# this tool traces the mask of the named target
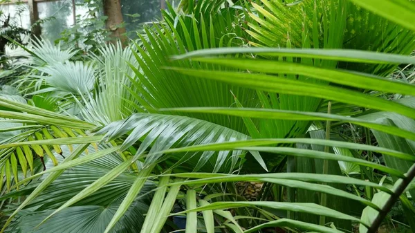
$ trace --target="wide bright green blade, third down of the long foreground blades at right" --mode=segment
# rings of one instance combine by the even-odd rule
[[[174,68],[176,71],[220,82],[228,82],[234,85],[241,85],[247,88],[255,88],[256,90],[269,91],[273,93],[283,93],[288,95],[301,95],[309,97],[324,98],[327,100],[334,100],[347,104],[355,104],[357,106],[364,106],[369,109],[378,109],[382,111],[393,111],[409,118],[415,118],[415,110],[392,102],[384,100],[372,95],[360,93],[358,91],[351,91],[347,88],[338,88],[335,86],[327,86],[321,84],[312,84],[303,80],[290,80],[285,77],[237,73],[237,72],[223,72],[223,71],[208,71],[191,69]]]

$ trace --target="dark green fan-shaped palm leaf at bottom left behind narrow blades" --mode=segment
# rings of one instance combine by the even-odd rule
[[[100,147],[100,149],[104,148]],[[62,149],[64,153],[69,153],[68,147]],[[89,150],[93,150],[93,147],[89,147]],[[80,155],[80,158],[84,156],[86,156],[85,153]],[[37,228],[36,226],[55,208],[64,204],[100,176],[107,174],[120,162],[122,159],[117,153],[110,153],[100,159],[64,171],[40,196],[35,198],[33,203],[19,212],[17,220],[10,227],[15,227],[15,230],[19,232],[55,232],[59,227],[62,227],[64,232],[104,232],[116,209],[120,207],[122,196],[127,193],[136,177],[131,171],[125,171],[112,183],[102,187],[99,192],[77,203],[77,206],[68,207],[50,218],[45,224]],[[51,162],[46,165],[48,168],[53,167]],[[43,178],[35,183],[42,180]],[[151,182],[145,184],[142,195],[133,201],[131,207],[114,227],[113,232],[140,232],[145,218],[143,214],[149,207],[150,196],[147,193],[151,187],[153,187]],[[48,201],[45,202],[45,200]]]

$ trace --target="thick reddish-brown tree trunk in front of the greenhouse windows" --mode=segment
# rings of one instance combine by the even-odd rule
[[[111,41],[116,43],[119,39],[122,46],[125,46],[127,37],[125,27],[122,26],[124,20],[121,13],[121,0],[104,0],[104,15],[108,17],[107,29],[111,32]]]

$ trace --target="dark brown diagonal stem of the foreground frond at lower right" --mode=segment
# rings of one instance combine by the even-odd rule
[[[389,199],[387,199],[385,205],[383,205],[378,216],[376,216],[373,223],[371,223],[371,226],[369,227],[369,230],[367,230],[367,233],[375,233],[378,230],[378,228],[380,227],[380,224],[382,224],[383,219],[387,216],[387,213],[391,211],[392,207],[394,206],[394,204],[396,203],[400,195],[403,194],[403,192],[405,192],[406,187],[409,185],[409,183],[411,183],[414,177],[415,177],[415,164],[412,165],[412,167],[407,172],[406,177],[401,179],[402,182],[395,188],[394,193],[391,194]]]

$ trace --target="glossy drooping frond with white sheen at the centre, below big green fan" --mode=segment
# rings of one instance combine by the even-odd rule
[[[131,147],[137,141],[141,141],[134,159],[145,157],[145,166],[164,160],[165,157],[163,157],[163,153],[160,153],[160,151],[165,151],[172,147],[227,142],[249,138],[246,134],[205,120],[188,118],[181,115],[151,113],[136,113],[125,120],[112,122],[107,127],[98,131],[97,134],[104,134],[102,140],[114,140],[128,132],[129,135],[122,143],[121,150]],[[149,149],[149,153],[147,156],[144,156],[143,152],[147,149]],[[195,171],[202,168],[206,169],[206,166],[210,167],[212,165],[213,171],[229,171],[229,169],[236,166],[237,159],[242,151],[220,151],[216,157],[214,153],[203,153],[201,156],[194,156],[196,153],[189,153],[187,156],[190,159],[187,158],[186,160],[187,163],[192,163]],[[174,157],[174,160],[181,163],[181,158],[183,158],[183,155],[178,154],[178,156]],[[228,158],[232,158],[232,160],[228,162]]]

